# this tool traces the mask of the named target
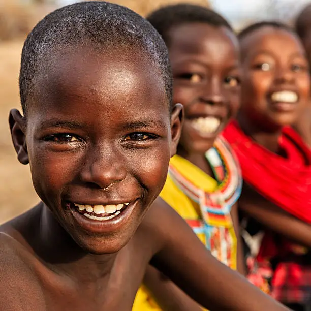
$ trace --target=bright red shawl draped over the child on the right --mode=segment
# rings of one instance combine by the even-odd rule
[[[248,184],[275,205],[311,223],[311,151],[293,129],[284,128],[279,140],[287,158],[257,144],[236,121],[229,123],[223,136],[235,151]]]

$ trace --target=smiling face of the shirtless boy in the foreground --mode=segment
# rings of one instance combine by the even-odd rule
[[[88,252],[113,253],[164,185],[181,108],[170,119],[162,78],[142,53],[68,54],[37,79],[26,147],[16,116],[12,136],[58,222]]]

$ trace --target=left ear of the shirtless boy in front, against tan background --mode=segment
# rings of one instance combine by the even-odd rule
[[[26,145],[25,118],[20,114],[17,109],[12,109],[9,115],[9,124],[13,145],[17,153],[17,159],[22,164],[28,164],[29,158]]]

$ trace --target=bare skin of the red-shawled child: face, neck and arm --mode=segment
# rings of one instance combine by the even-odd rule
[[[244,77],[237,120],[247,135],[278,153],[282,128],[293,124],[308,102],[309,75],[304,50],[295,35],[262,27],[241,40],[241,51]],[[291,109],[271,102],[271,93],[279,90],[298,94]],[[267,201],[246,183],[239,208],[276,233],[311,246],[311,226]]]

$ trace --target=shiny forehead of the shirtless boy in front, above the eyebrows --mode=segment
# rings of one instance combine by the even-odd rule
[[[132,110],[142,102],[168,107],[159,69],[138,52],[56,53],[36,79],[34,91],[44,109],[75,105],[83,110],[83,103],[92,106],[109,101]]]

